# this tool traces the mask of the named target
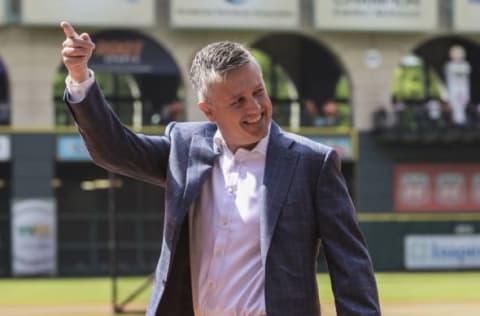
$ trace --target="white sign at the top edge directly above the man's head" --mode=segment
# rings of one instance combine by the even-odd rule
[[[171,0],[170,23],[184,28],[292,29],[299,0]]]

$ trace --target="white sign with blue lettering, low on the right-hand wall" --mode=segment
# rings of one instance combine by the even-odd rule
[[[409,235],[404,251],[407,269],[480,268],[480,235]]]

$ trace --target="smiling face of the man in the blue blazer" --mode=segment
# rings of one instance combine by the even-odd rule
[[[267,135],[272,119],[272,102],[255,62],[232,70],[225,80],[211,84],[208,100],[198,106],[217,124],[232,152],[255,147]]]

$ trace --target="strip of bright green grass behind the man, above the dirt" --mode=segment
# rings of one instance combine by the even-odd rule
[[[119,297],[124,299],[145,278],[119,281]],[[465,302],[480,300],[480,272],[457,273],[378,273],[382,302]],[[322,302],[332,302],[328,275],[319,274]],[[108,278],[20,278],[0,280],[0,305],[96,304],[109,303]],[[149,290],[135,301],[145,304]]]

